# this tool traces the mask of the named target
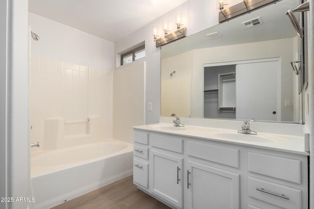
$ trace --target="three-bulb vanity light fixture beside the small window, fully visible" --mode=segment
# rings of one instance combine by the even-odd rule
[[[185,27],[181,28],[181,25],[183,25],[181,24],[181,21],[182,21],[181,16],[177,16],[176,20],[177,30],[172,33],[168,33],[170,31],[169,24],[167,21],[165,21],[164,28],[162,29],[164,31],[164,36],[159,39],[157,39],[158,37],[157,26],[153,27],[152,36],[154,37],[154,41],[156,42],[156,47],[163,46],[165,44],[176,41],[186,36],[185,35],[186,28]]]

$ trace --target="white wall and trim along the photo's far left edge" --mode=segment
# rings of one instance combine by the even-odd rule
[[[27,0],[0,2],[0,196],[27,197]],[[25,209],[27,202],[0,203]]]

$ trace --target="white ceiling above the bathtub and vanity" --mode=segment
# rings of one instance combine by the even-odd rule
[[[28,11],[116,42],[187,0],[28,0]]]

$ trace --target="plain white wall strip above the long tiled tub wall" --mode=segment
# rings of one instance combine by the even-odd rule
[[[40,37],[39,41],[32,40],[32,55],[113,70],[112,42],[30,12],[28,24]]]

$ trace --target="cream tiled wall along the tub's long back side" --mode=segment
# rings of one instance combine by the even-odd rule
[[[100,117],[100,139],[112,139],[112,73],[32,56],[31,141],[38,141],[43,147],[48,118],[64,119],[64,135],[79,136],[86,134],[86,121],[91,116]],[[86,138],[75,140],[88,142]]]

